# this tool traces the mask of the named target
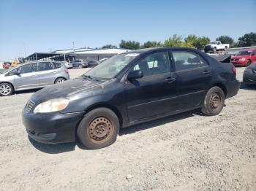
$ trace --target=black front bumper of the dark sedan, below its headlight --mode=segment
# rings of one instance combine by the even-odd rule
[[[75,141],[76,128],[83,114],[84,112],[34,114],[23,109],[22,120],[31,139],[49,144],[64,143]]]

